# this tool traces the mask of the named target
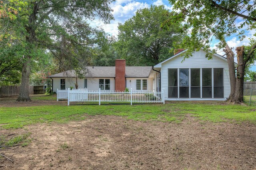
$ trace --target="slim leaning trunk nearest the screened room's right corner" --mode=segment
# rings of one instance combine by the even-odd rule
[[[225,48],[223,51],[226,53],[227,60],[228,60],[228,70],[229,70],[229,79],[230,79],[230,95],[227,101],[230,101],[235,96],[236,91],[236,72],[235,72],[235,65],[234,65],[234,53],[226,43]]]

